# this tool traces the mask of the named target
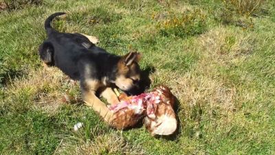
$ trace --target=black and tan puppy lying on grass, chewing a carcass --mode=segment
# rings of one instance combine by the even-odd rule
[[[61,33],[54,30],[51,21],[65,14],[57,12],[45,21],[47,39],[40,45],[39,54],[44,63],[56,66],[70,78],[80,81],[83,101],[91,106],[108,123],[112,114],[107,106],[98,99],[100,91],[108,103],[117,103],[118,98],[111,85],[129,91],[140,81],[140,54],[129,52],[125,56],[109,54],[91,42],[84,34]]]

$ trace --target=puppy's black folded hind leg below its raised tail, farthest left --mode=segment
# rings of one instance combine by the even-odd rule
[[[54,65],[54,47],[50,42],[44,42],[39,46],[39,55],[46,65]]]

